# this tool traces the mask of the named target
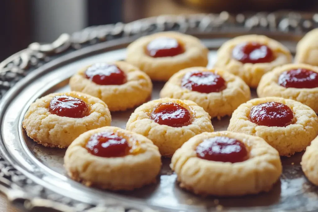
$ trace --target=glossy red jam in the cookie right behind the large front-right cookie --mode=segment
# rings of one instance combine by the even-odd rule
[[[294,113],[290,107],[278,102],[266,102],[252,107],[250,121],[267,127],[286,127],[292,124]]]

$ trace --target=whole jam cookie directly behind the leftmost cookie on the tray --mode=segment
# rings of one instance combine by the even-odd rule
[[[110,111],[123,111],[144,103],[152,83],[144,72],[123,61],[96,63],[82,68],[70,79],[73,91],[103,100]]]

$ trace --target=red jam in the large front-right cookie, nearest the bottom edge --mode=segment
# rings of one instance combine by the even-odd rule
[[[248,151],[242,141],[217,136],[205,139],[196,149],[197,157],[209,161],[242,162],[248,159]]]

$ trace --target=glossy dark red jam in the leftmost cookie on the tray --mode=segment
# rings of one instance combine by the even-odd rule
[[[82,118],[89,115],[86,102],[71,96],[55,96],[50,101],[49,112],[58,116]]]

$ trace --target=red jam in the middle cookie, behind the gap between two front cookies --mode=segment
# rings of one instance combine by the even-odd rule
[[[192,122],[190,111],[173,102],[158,104],[151,112],[150,119],[170,127],[187,126]]]

